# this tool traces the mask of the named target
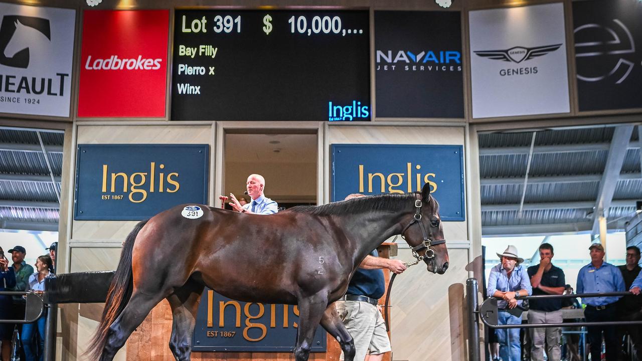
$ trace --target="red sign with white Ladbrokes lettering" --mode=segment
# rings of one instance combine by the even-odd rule
[[[80,117],[164,117],[169,10],[85,10]]]

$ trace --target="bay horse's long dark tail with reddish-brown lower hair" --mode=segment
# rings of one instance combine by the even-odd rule
[[[121,312],[123,312],[130,297],[132,297],[132,250],[134,249],[136,236],[148,221],[149,220],[143,220],[139,222],[125,240],[123,251],[121,251],[121,258],[118,262],[118,268],[114,274],[114,279],[112,279],[112,284],[109,286],[103,317],[86,351],[86,354],[89,355],[89,358],[92,360],[98,360],[98,358],[100,358],[100,355],[103,353],[103,348],[105,348],[105,344],[107,344],[109,326],[111,326]]]

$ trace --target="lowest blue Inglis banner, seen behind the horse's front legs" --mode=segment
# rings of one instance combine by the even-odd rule
[[[205,289],[201,297],[193,351],[291,352],[297,340],[299,308],[290,304],[234,301]],[[326,349],[325,330],[319,326],[312,352]]]

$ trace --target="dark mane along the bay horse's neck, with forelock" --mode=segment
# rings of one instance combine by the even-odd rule
[[[285,212],[311,213],[313,215],[351,215],[361,211],[404,211],[414,206],[417,193],[390,193],[352,198],[324,204],[322,206],[297,206]],[[427,206],[436,212],[439,204],[434,197],[428,197]]]

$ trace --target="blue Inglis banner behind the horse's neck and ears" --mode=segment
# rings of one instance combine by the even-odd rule
[[[332,201],[351,193],[421,191],[428,183],[445,221],[465,220],[460,145],[332,145]]]

